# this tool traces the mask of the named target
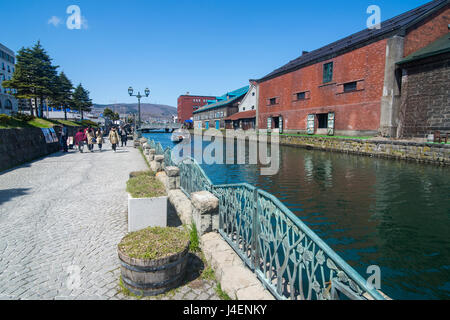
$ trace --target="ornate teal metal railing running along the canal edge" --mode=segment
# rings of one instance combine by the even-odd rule
[[[178,167],[188,197],[207,190],[219,199],[219,233],[277,299],[384,300],[273,195],[246,183],[213,185],[191,158]]]

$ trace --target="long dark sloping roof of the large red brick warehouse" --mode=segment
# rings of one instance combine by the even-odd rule
[[[276,69],[265,77],[257,80],[264,82],[280,75],[301,69],[305,66],[324,61],[354,50],[373,41],[379,41],[394,34],[403,35],[407,28],[417,24],[442,7],[448,5],[450,0],[434,0],[421,7],[403,13],[397,17],[381,23],[380,29],[364,29],[358,33],[333,42],[325,47],[303,54],[283,67]]]

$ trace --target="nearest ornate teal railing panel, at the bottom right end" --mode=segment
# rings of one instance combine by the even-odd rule
[[[258,190],[255,271],[279,299],[383,297],[273,195]]]

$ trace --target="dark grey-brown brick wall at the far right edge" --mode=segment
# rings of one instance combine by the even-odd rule
[[[450,133],[450,55],[419,61],[406,68],[402,81],[404,137]]]

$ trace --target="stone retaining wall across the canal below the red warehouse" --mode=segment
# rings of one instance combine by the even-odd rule
[[[280,144],[364,156],[450,165],[450,145],[400,141],[280,136]]]

